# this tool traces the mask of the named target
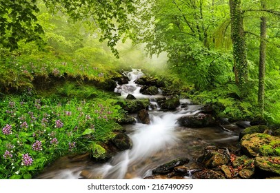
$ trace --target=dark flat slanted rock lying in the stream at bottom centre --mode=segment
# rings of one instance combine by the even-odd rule
[[[174,170],[174,167],[187,164],[189,161],[190,160],[188,158],[174,159],[173,161],[164,163],[163,165],[156,167],[154,170],[152,170],[152,174],[167,174],[169,172],[172,172]]]

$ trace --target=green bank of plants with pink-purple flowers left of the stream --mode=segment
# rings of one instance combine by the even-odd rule
[[[108,142],[120,128],[114,120],[122,111],[114,103],[112,99],[39,98],[29,93],[3,97],[0,159],[5,170],[0,171],[1,179],[30,179],[59,156],[90,152],[92,141]],[[24,161],[23,154],[30,156],[31,163]]]

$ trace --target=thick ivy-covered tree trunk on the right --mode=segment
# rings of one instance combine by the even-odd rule
[[[241,0],[230,0],[230,19],[235,81],[242,88],[248,81],[248,63]]]

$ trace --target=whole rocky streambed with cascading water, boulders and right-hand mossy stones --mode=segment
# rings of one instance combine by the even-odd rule
[[[114,81],[128,114],[117,120],[125,132],[101,144],[105,159],[67,156],[39,179],[280,178],[279,129],[219,119],[214,105],[165,92],[161,81],[140,70]]]

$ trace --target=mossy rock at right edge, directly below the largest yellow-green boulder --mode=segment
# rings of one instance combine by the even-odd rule
[[[254,165],[260,170],[280,175],[280,156],[260,156],[255,159]]]

